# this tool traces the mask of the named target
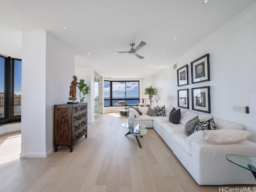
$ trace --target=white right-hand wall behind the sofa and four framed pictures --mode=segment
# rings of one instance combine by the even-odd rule
[[[256,142],[256,117],[232,111],[232,106],[250,106],[250,93],[256,92],[255,13],[256,3],[156,75],[152,86],[161,95],[158,104],[177,106],[177,90],[189,88],[191,110],[191,88],[210,86],[211,115],[243,124]],[[210,81],[191,84],[190,62],[206,53],[210,54]],[[189,85],[177,86],[176,62],[177,68],[188,64]]]

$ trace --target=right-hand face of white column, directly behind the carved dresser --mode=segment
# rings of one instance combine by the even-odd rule
[[[70,83],[75,74],[75,54],[46,32],[46,153],[54,141],[54,105],[69,100]],[[23,115],[23,114],[22,114]]]

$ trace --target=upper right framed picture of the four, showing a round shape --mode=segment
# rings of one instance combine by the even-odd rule
[[[209,54],[191,62],[191,83],[210,81]]]

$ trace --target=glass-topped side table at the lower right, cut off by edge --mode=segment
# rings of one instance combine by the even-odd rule
[[[226,159],[242,168],[250,170],[256,179],[256,157],[230,154],[226,155]]]

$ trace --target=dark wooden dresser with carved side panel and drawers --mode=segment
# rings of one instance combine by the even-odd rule
[[[87,103],[54,105],[54,152],[59,146],[72,152],[84,135],[87,137]]]

